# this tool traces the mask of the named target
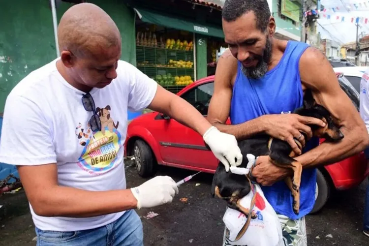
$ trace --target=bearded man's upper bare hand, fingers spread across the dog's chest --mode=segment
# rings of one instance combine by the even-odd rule
[[[304,147],[306,141],[312,137],[311,128],[307,124],[325,126],[322,120],[298,114],[275,114],[262,117],[266,126],[266,133],[272,137],[287,141],[296,154],[301,154],[301,151],[293,139],[296,138]],[[307,134],[307,140],[301,132]]]

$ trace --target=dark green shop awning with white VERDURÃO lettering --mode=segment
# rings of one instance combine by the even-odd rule
[[[176,17],[155,13],[141,8],[134,8],[134,10],[143,22],[177,30],[195,32],[207,36],[224,38],[223,30],[218,27],[202,25],[192,22],[191,20],[178,19]]]

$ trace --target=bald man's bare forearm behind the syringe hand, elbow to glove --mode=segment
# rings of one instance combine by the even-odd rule
[[[92,217],[137,207],[130,189],[88,191],[56,185],[29,200],[35,213],[41,216]]]

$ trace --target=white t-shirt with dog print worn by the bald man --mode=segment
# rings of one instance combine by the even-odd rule
[[[118,77],[90,92],[96,108],[110,114],[105,132],[93,133],[92,112],[82,105],[82,91],[58,72],[57,60],[31,72],[6,99],[0,162],[15,165],[57,163],[60,185],[92,191],[125,189],[123,163],[127,109],[139,111],[154,98],[157,84],[133,65],[119,61]],[[106,114],[100,116],[105,122]],[[42,173],[39,174],[42,176]],[[32,219],[41,230],[76,231],[106,225],[124,212],[88,218]]]

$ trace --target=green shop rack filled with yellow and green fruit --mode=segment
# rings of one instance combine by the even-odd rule
[[[193,51],[137,45],[137,68],[170,92],[194,81]]]

